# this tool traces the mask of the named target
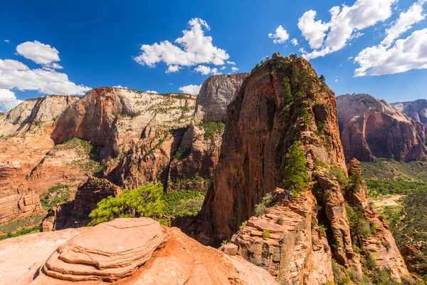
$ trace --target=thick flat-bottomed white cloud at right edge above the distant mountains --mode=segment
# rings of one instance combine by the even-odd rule
[[[394,46],[365,48],[354,58],[360,68],[354,76],[379,76],[427,68],[427,28],[396,41]]]

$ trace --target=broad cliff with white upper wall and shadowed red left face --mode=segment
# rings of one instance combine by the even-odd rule
[[[159,95],[122,88],[96,88],[65,110],[51,137],[97,147],[102,175],[123,187],[167,179],[194,113],[193,95]]]

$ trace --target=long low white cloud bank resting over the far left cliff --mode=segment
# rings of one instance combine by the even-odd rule
[[[83,95],[89,87],[69,81],[65,73],[53,69],[28,68],[20,61],[0,59],[0,88],[38,90],[39,93]]]

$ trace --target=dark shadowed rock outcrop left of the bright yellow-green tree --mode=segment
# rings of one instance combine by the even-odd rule
[[[78,187],[75,199],[48,210],[42,222],[43,232],[83,227],[90,222],[89,214],[106,197],[117,197],[122,189],[106,179],[90,177]]]

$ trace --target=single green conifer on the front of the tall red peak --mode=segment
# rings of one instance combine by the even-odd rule
[[[310,174],[306,165],[304,149],[301,142],[294,142],[285,155],[285,169],[283,170],[283,186],[294,188],[297,192],[305,190],[310,182]]]

